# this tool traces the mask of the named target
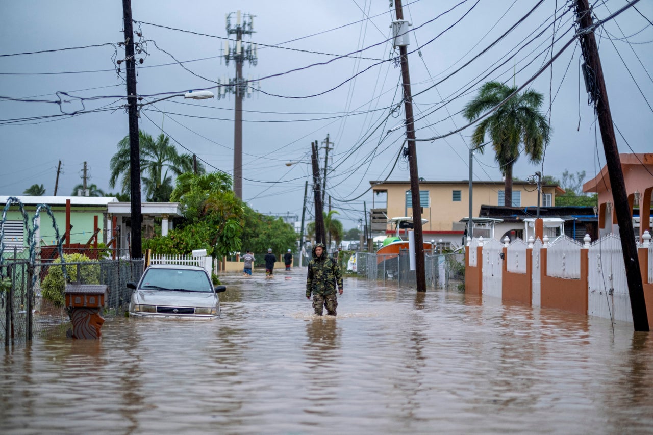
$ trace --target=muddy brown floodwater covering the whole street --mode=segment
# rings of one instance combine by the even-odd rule
[[[212,321],[107,319],[5,349],[5,434],[653,432],[653,338],[630,323],[306,269],[225,274]]]

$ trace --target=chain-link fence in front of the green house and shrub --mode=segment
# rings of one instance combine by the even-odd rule
[[[29,264],[27,255],[4,255],[0,276],[6,277],[0,293],[0,339],[5,347],[24,343],[35,336],[65,336],[71,327],[63,302],[65,289],[61,263]],[[104,318],[125,315],[131,289],[143,272],[142,259],[100,260],[65,263],[67,282],[108,286]],[[33,282],[33,285],[31,284]]]

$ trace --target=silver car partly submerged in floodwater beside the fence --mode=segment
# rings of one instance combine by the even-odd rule
[[[134,290],[129,315],[193,319],[220,315],[217,293],[227,290],[214,288],[204,268],[185,265],[151,265],[138,285],[128,282],[127,287]]]

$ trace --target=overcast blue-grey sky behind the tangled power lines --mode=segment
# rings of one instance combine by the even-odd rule
[[[520,86],[540,72],[573,39],[575,17],[567,3],[404,0],[404,17],[412,25],[408,51],[417,138],[466,125],[459,112],[484,82]],[[595,3],[596,16],[605,19],[628,2]],[[256,33],[245,40],[261,44],[258,64],[246,64],[244,76],[260,78],[261,92],[243,104],[243,196],[259,212],[301,215],[309,166],[284,163],[307,161],[311,141],[323,142],[327,135],[334,143],[327,194],[345,228],[363,217],[363,201],[372,207],[372,193],[362,195],[370,180],[408,180],[407,162],[394,166],[405,130],[394,129],[404,110],[401,70],[388,61],[397,54],[387,42],[394,20],[389,1],[134,0],[132,8],[147,52],[140,56],[137,84],[145,101],[215,88],[214,81],[234,76],[234,64],[220,57],[228,37],[225,14],[255,16]],[[84,161],[89,183],[117,191],[108,186],[109,161],[128,133],[121,108],[125,71],[116,65],[124,57],[117,45],[123,40],[121,1],[1,1],[0,12],[0,96],[10,98],[0,99],[0,194],[20,195],[44,184],[52,195],[59,160],[59,195],[82,182]],[[622,153],[653,150],[652,21],[653,3],[640,1],[597,29]],[[93,47],[63,50],[82,46]],[[6,56],[42,50],[52,51]],[[543,165],[522,157],[515,176],[543,170],[560,178],[566,169],[584,170],[589,180],[605,164],[581,61],[579,44],[572,42],[528,85],[545,95],[543,111],[554,132]],[[140,129],[153,136],[163,130],[180,152],[195,153],[207,169],[232,173],[233,97],[192,103],[175,98],[143,109]],[[466,180],[471,129],[419,142],[419,175]],[[491,150],[476,155],[473,172],[475,180],[501,179]]]

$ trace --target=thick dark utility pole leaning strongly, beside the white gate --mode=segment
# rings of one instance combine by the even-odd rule
[[[585,60],[583,72],[586,77],[586,86],[590,99],[594,103],[594,109],[596,110],[599,129],[601,130],[603,150],[605,150],[605,164],[610,177],[614,210],[619,225],[619,236],[624,253],[624,265],[626,266],[626,281],[628,282],[628,293],[630,295],[630,308],[633,312],[633,326],[636,331],[648,331],[648,315],[646,314],[644,288],[637,257],[637,246],[635,245],[635,231],[633,230],[633,221],[630,215],[628,195],[626,195],[624,172],[616,146],[616,137],[614,137],[613,120],[608,103],[607,89],[605,88],[603,69],[601,69],[601,59],[599,58],[599,50],[594,37],[594,20],[587,0],[576,1],[576,14],[579,22],[582,56]]]

